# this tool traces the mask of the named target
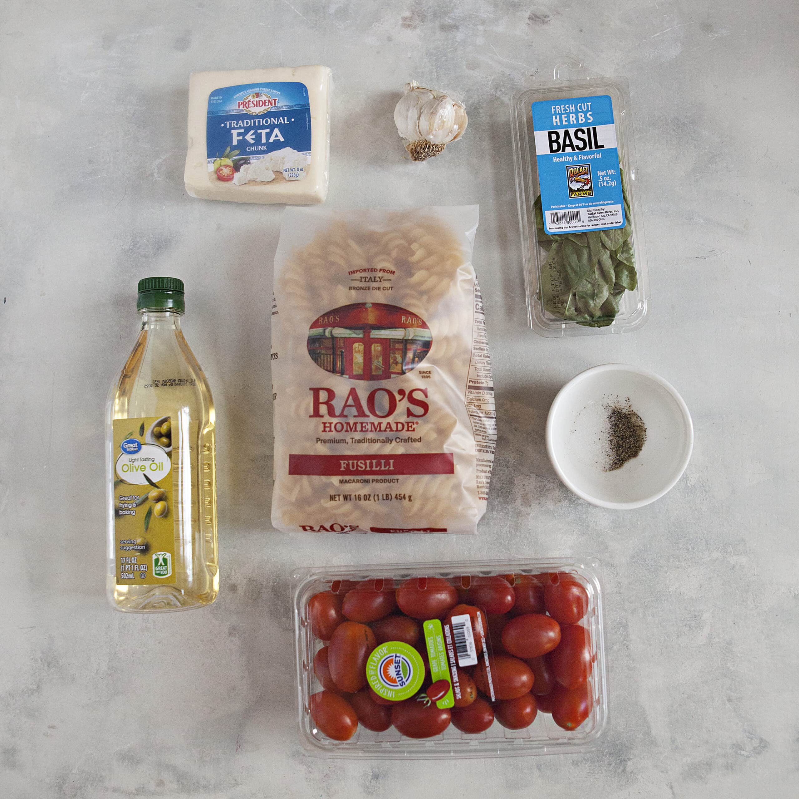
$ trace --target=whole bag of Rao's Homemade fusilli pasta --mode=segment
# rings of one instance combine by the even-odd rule
[[[496,440],[476,205],[287,208],[275,256],[272,523],[474,533]]]

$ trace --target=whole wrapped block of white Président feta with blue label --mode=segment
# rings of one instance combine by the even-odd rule
[[[192,74],[186,191],[205,200],[324,202],[331,89],[326,66]]]

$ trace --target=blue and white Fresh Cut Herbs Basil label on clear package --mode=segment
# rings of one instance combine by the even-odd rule
[[[610,96],[539,101],[532,110],[546,233],[623,228],[622,174]]]

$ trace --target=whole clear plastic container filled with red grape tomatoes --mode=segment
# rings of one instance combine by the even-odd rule
[[[594,559],[294,574],[297,710],[321,757],[581,752],[606,728]]]

